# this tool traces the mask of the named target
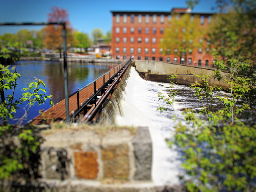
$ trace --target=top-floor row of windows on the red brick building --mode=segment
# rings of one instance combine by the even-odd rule
[[[134,23],[135,15],[131,14],[130,17],[131,17],[131,23]],[[127,14],[123,14],[123,23],[127,23],[127,18],[128,18]],[[165,16],[163,14],[160,15],[160,23],[164,23],[164,18],[165,18]],[[180,16],[176,15],[175,18],[176,18],[176,20],[179,20]],[[190,22],[193,22],[194,18],[195,18],[194,15],[191,15]],[[139,14],[137,19],[138,19],[137,20],[138,23],[142,23],[142,14]],[[172,20],[172,15],[168,15],[168,21],[171,21],[171,20]],[[204,24],[204,20],[205,20],[205,17],[200,16],[200,23],[202,25]],[[207,20],[208,20],[208,24],[210,24],[212,22],[212,16],[208,16]],[[150,15],[146,14],[145,15],[145,23],[149,23],[149,22],[150,22]],[[157,23],[157,15],[156,14],[152,15],[152,22]],[[116,23],[120,23],[120,14],[116,14]]]

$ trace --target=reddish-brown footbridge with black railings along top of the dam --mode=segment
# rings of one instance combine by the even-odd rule
[[[116,86],[124,76],[132,60],[125,60],[88,85],[68,96],[70,120],[84,122],[97,121],[102,108],[107,104]],[[32,120],[32,124],[50,124],[65,121],[65,100],[42,112]]]

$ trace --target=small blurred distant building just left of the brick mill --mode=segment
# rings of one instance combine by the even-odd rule
[[[95,53],[101,55],[111,55],[111,38],[100,37],[96,38]]]

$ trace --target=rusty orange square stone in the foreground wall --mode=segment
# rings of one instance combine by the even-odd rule
[[[74,152],[75,170],[78,179],[96,179],[98,174],[97,153]]]

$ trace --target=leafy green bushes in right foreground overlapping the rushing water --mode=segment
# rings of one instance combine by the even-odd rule
[[[199,75],[191,88],[202,103],[199,113],[184,111],[186,125],[179,123],[170,147],[179,146],[184,153],[182,167],[188,177],[184,179],[188,191],[254,191],[256,178],[256,126],[246,125],[238,117],[250,110],[248,103],[239,103],[251,90],[250,79],[239,76],[239,71],[250,64],[237,59],[226,62],[217,59],[218,68],[213,76],[229,85],[230,95],[216,95],[218,86],[209,86],[210,76]],[[217,99],[222,108],[212,110]],[[161,99],[161,98],[160,98]]]

